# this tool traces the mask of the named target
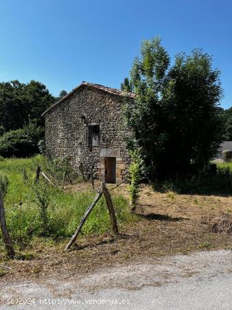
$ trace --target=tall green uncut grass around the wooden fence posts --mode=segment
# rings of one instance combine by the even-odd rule
[[[70,237],[95,196],[95,192],[63,192],[58,187],[51,187],[41,180],[49,192],[48,222],[45,231],[35,192],[30,183],[25,181],[25,176],[34,180],[36,165],[42,161],[41,156],[0,161],[0,171],[10,180],[8,193],[5,196],[5,211],[10,235],[16,243],[28,242],[33,237],[56,240]],[[130,214],[126,198],[113,196],[113,203],[119,226],[135,220],[135,216]],[[86,220],[81,234],[102,234],[106,231],[111,231],[111,223],[105,200],[102,198]]]

